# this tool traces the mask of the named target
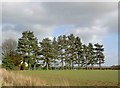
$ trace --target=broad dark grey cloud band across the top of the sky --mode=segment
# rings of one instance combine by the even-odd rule
[[[113,2],[3,3],[3,22],[90,26],[94,20],[116,10],[116,4]]]

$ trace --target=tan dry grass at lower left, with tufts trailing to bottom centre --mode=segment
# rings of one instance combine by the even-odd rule
[[[38,76],[26,76],[20,72],[0,69],[1,86],[69,86],[67,80],[61,80],[59,84],[50,84]],[[50,79],[51,80],[51,79]],[[54,82],[53,82],[54,83]]]

